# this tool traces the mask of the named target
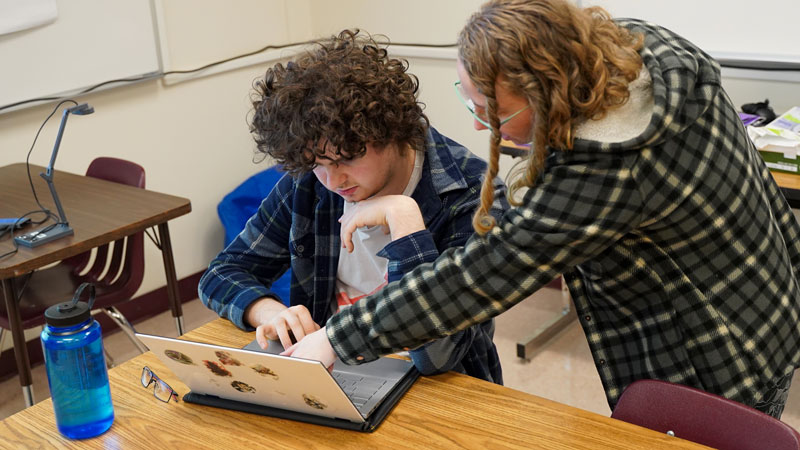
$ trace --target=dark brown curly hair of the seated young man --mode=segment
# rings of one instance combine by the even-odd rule
[[[408,62],[389,58],[367,33],[344,30],[255,82],[250,124],[257,151],[293,176],[318,156],[359,158],[366,144],[425,148],[428,118]]]

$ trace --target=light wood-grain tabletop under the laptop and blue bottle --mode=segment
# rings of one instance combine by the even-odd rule
[[[243,347],[253,339],[216,319],[184,336]],[[610,417],[457,373],[422,377],[373,433],[188,404],[162,403],[140,383],[149,366],[179,394],[186,385],[151,352],[111,369],[115,421],[96,438],[69,441],[50,399],[0,422],[0,448],[707,448]]]

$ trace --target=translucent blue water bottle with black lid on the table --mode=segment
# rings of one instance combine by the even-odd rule
[[[89,303],[79,301],[89,287]],[[92,318],[94,285],[47,308],[42,349],[58,431],[70,439],[97,436],[114,422],[100,324]]]

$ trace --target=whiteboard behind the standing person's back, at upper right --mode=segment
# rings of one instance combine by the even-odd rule
[[[655,22],[718,60],[800,66],[800,0],[584,0],[614,17]],[[800,68],[800,67],[799,67]]]

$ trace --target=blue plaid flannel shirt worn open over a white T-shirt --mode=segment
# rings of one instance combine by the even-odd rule
[[[466,148],[429,128],[422,177],[412,194],[426,229],[389,243],[378,253],[389,260],[389,281],[400,279],[441,250],[462,246],[472,235],[472,214],[486,163]],[[491,213],[508,208],[505,186],[495,180]],[[336,271],[341,251],[338,219],[344,200],[328,191],[313,173],[297,180],[284,176],[262,202],[245,229],[209,265],[200,280],[200,299],[241,329],[247,307],[262,297],[291,266],[292,305],[305,305],[318,324],[336,310]],[[423,374],[456,370],[502,384],[494,321],[482,323],[410,352]],[[409,323],[408,326],[414,326]],[[423,344],[423,342],[418,343]]]

